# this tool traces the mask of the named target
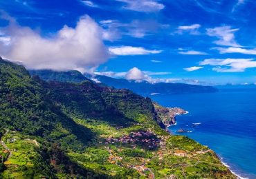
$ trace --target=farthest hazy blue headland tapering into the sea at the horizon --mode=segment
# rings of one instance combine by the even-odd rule
[[[97,75],[94,78],[101,83],[116,87],[117,89],[130,89],[132,92],[143,95],[207,93],[218,91],[216,88],[211,86],[188,85],[184,83],[149,83],[147,81],[138,83],[136,81],[128,81],[123,78],[117,79],[100,75]]]

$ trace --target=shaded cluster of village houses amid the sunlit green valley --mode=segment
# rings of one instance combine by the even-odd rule
[[[156,138],[156,135],[152,131],[137,131],[131,132],[126,136],[120,138],[107,138],[106,144],[122,143],[122,144],[135,144],[143,145],[149,149],[160,147],[161,140]]]

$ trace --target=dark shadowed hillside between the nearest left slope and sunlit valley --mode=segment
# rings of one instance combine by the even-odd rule
[[[136,123],[127,118],[117,107],[108,105],[100,89],[86,84],[50,82],[43,83],[48,97],[71,118],[94,119],[108,122],[113,127],[129,127]]]

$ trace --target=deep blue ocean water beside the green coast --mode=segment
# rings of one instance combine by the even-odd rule
[[[243,178],[256,178],[256,89],[223,90],[210,94],[151,96],[165,107],[189,113],[177,116],[171,133],[187,129],[189,136],[213,149],[230,169]],[[192,123],[201,123],[192,127]]]

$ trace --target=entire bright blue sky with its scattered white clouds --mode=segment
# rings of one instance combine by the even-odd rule
[[[0,56],[151,83],[256,84],[254,0],[0,0]]]

